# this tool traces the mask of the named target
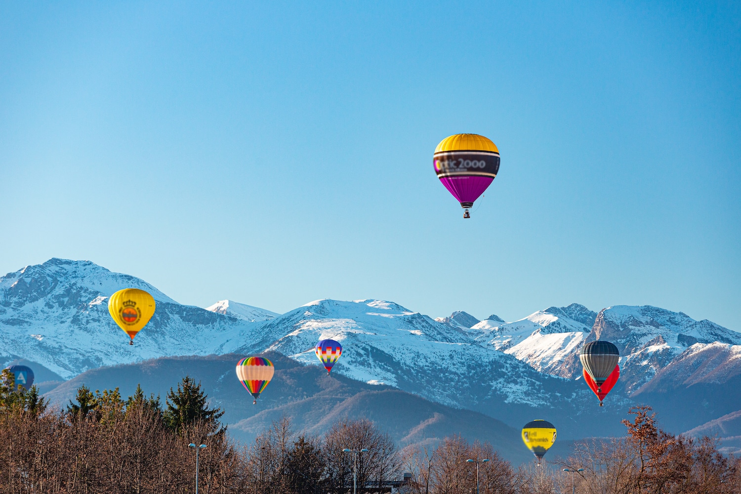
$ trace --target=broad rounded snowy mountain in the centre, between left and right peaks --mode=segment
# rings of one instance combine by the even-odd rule
[[[465,330],[389,301],[319,300],[267,321],[261,338],[243,352],[269,350],[319,365],[316,341],[343,345],[333,367],[370,384],[390,384],[425,398],[475,409],[495,395],[503,401],[545,406],[552,399],[545,381],[516,358],[482,347]]]

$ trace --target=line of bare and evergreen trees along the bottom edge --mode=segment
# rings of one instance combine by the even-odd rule
[[[741,493],[741,464],[717,442],[665,433],[647,407],[631,410],[625,438],[584,441],[565,461],[514,468],[491,444],[448,437],[398,450],[373,422],[338,421],[322,436],[296,431],[288,418],[255,441],[233,443],[222,410],[191,378],[167,393],[137,388],[80,387],[66,407],[49,407],[36,388],[0,381],[0,493],[193,493],[199,450],[199,492],[246,494],[351,493],[353,453],[359,493],[471,494],[479,464],[481,494],[565,494],[571,473],[578,493]],[[407,473],[405,478],[403,475]],[[408,475],[411,475],[409,477]],[[403,481],[402,481],[403,479]]]

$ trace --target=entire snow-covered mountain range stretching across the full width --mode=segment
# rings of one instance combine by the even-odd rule
[[[107,297],[124,287],[147,290],[157,301],[155,316],[133,346],[107,313]],[[435,320],[378,300],[319,300],[283,315],[229,300],[202,309],[178,304],[139,278],[56,258],[0,278],[0,336],[0,362],[25,358],[63,378],[148,358],[267,350],[319,365],[316,341],[333,338],[345,350],[333,374],[388,384],[509,424],[547,415],[559,418],[565,432],[594,425],[593,433],[604,433],[608,418],[622,427],[616,414],[634,403],[633,395],[660,402],[657,393],[670,386],[662,370],[674,366],[673,373],[683,375],[710,355],[713,344],[728,347],[728,362],[735,362],[741,348],[734,347],[741,344],[739,333],[650,306],[594,313],[571,304],[514,322],[494,315],[478,321],[462,311]],[[597,338],[618,345],[622,372],[606,406],[594,410],[594,396],[579,381],[577,354]],[[697,345],[702,358],[689,358]],[[701,375],[702,369],[694,372]],[[665,384],[648,386],[659,382]],[[706,407],[711,415],[741,410],[734,397],[728,403],[712,399]],[[601,421],[583,420],[595,413]]]

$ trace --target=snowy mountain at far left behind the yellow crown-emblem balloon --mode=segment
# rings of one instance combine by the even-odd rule
[[[147,290],[157,302],[133,346],[107,307],[107,297],[127,287]],[[36,361],[63,378],[146,358],[228,353],[249,341],[255,324],[178,304],[139,278],[90,261],[53,258],[0,278],[0,356]]]

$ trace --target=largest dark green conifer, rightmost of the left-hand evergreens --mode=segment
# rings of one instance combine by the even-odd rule
[[[170,393],[167,393],[164,416],[167,427],[179,432],[183,427],[202,423],[212,430],[219,429],[219,418],[224,412],[220,408],[209,408],[207,398],[201,390],[201,384],[196,384],[195,379],[186,375],[178,384],[177,391],[170,388]],[[222,431],[219,430],[219,433]]]

